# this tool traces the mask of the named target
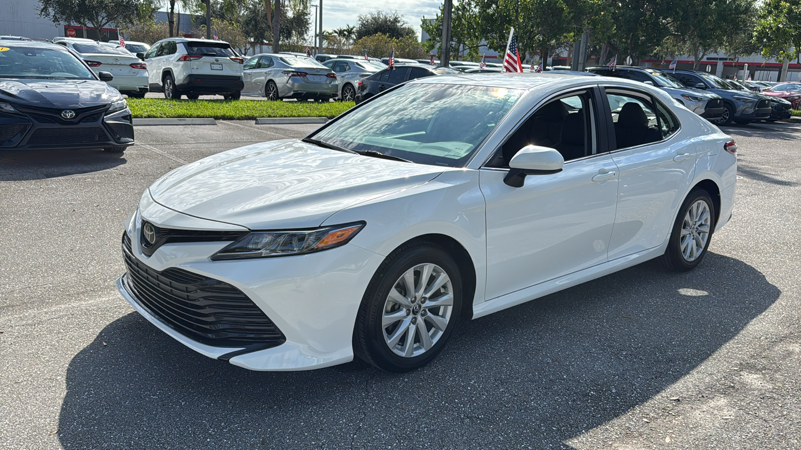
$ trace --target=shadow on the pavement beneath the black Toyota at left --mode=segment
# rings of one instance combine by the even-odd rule
[[[104,171],[126,163],[123,153],[101,150],[0,151],[0,181],[49,179]]]

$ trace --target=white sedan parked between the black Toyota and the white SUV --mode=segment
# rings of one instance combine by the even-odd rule
[[[95,74],[103,71],[114,75],[108,85],[120,93],[136,98],[147,94],[147,64],[125,47],[83,38],[58,38],[54,42],[80,54]]]

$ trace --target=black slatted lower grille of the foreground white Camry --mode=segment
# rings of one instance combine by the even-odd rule
[[[264,311],[236,287],[175,267],[155,271],[131,254],[127,233],[123,256],[131,294],[181,334],[215,347],[271,348],[286,341]]]

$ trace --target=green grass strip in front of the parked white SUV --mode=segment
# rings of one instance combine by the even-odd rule
[[[352,108],[354,102],[268,102],[264,100],[168,100],[128,98],[135,119],[253,120],[257,117],[327,117]]]

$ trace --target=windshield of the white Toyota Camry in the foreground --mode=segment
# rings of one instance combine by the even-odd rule
[[[463,167],[523,90],[413,84],[360,106],[314,135],[354,151]]]

